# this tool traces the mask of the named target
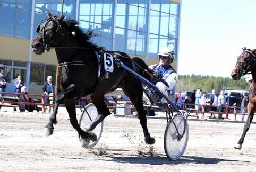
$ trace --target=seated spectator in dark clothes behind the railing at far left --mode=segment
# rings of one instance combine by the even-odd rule
[[[19,102],[33,102],[32,99],[27,96],[27,87],[23,86],[21,87],[21,94],[19,97]],[[33,110],[35,110],[35,105],[29,105],[29,104],[22,104],[19,103],[19,110],[20,112],[25,112],[25,110],[29,111],[29,112],[33,112]]]

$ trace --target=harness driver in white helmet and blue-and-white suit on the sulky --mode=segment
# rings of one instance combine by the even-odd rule
[[[152,79],[151,82],[155,84],[160,92],[168,96],[168,90],[172,90],[178,81],[178,75],[175,69],[172,67],[173,59],[174,59],[174,51],[170,47],[161,48],[158,52],[159,63],[155,65],[149,66],[150,69],[155,71],[160,77],[158,79]],[[151,98],[157,99],[152,95]],[[155,101],[154,101],[155,102]],[[166,103],[167,101],[162,98],[162,103]]]

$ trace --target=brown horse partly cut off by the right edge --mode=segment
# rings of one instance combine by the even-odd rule
[[[234,80],[239,80],[245,74],[251,73],[252,84],[249,91],[249,103],[247,105],[248,119],[244,124],[244,130],[241,138],[239,139],[237,145],[234,147],[236,149],[241,149],[244,142],[244,137],[246,132],[249,130],[251,122],[253,120],[253,115],[256,110],[256,49],[246,49],[243,48],[243,52],[237,58],[236,66],[233,69],[231,76]]]

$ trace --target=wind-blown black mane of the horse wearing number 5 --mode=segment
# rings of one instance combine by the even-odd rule
[[[90,40],[93,36],[96,36],[96,34],[93,33],[93,30],[88,30],[87,32],[83,32],[83,30],[78,26],[79,22],[74,19],[66,20],[65,25],[67,27],[67,30],[69,30],[70,33],[75,32],[75,40],[78,42],[80,47],[87,47],[97,50],[104,50],[103,47],[99,47],[96,44],[92,43]]]

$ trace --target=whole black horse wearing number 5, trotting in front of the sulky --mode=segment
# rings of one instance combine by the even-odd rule
[[[139,79],[127,73],[124,69],[114,64],[112,73],[104,73],[98,77],[98,59],[97,55],[103,57],[104,48],[98,47],[90,41],[93,36],[92,31],[83,33],[75,20],[64,21],[65,15],[60,17],[47,14],[46,22],[38,26],[37,37],[32,42],[32,49],[37,55],[41,55],[50,48],[55,48],[57,60],[59,63],[59,75],[57,78],[59,93],[55,99],[53,114],[50,116],[46,125],[48,135],[53,133],[53,124],[56,124],[56,114],[59,104],[63,101],[69,113],[70,122],[73,128],[81,135],[82,146],[87,143],[86,139],[96,140],[97,137],[91,131],[110,114],[107,105],[104,102],[104,95],[112,92],[116,88],[122,88],[136,110],[140,124],[143,129],[146,143],[153,144],[155,139],[150,137],[147,128],[146,112],[142,104],[142,83]],[[141,68],[135,64],[139,63],[144,69],[148,66],[139,58],[131,58],[124,52],[109,52],[113,58],[120,59],[124,64],[134,71],[143,75]],[[136,62],[134,62],[136,61]],[[103,66],[101,66],[103,68]],[[98,116],[92,121],[89,128],[83,131],[76,119],[75,99],[91,95],[93,104],[97,107]]]

